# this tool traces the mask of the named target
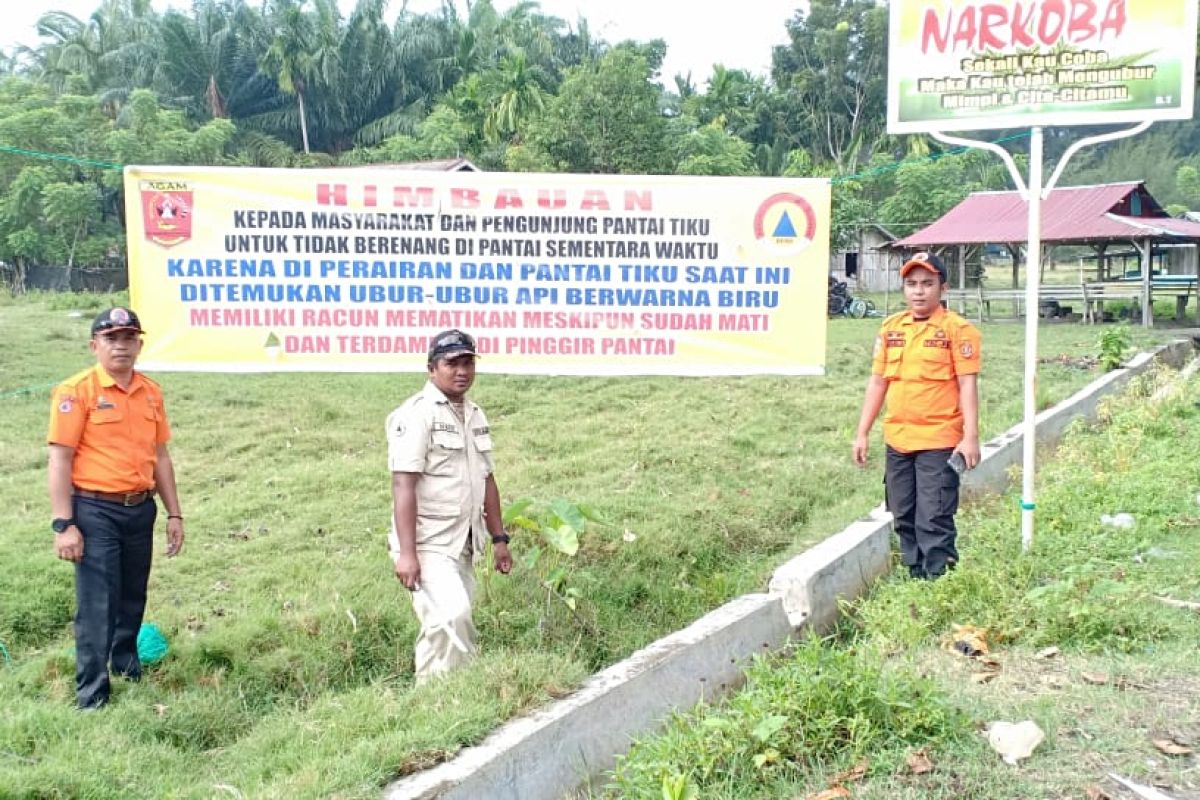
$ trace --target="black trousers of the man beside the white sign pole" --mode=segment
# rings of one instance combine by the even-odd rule
[[[953,449],[905,453],[888,447],[883,483],[895,517],[900,560],[917,577],[936,578],[959,560],[959,475],[949,464]]]

